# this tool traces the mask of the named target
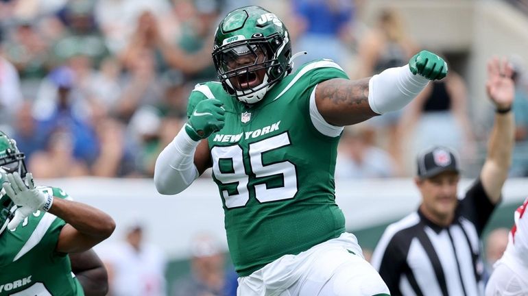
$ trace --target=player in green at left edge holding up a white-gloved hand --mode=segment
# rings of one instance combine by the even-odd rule
[[[112,218],[60,188],[35,187],[3,132],[0,173],[0,296],[105,295],[106,270],[91,247],[112,234]]]

